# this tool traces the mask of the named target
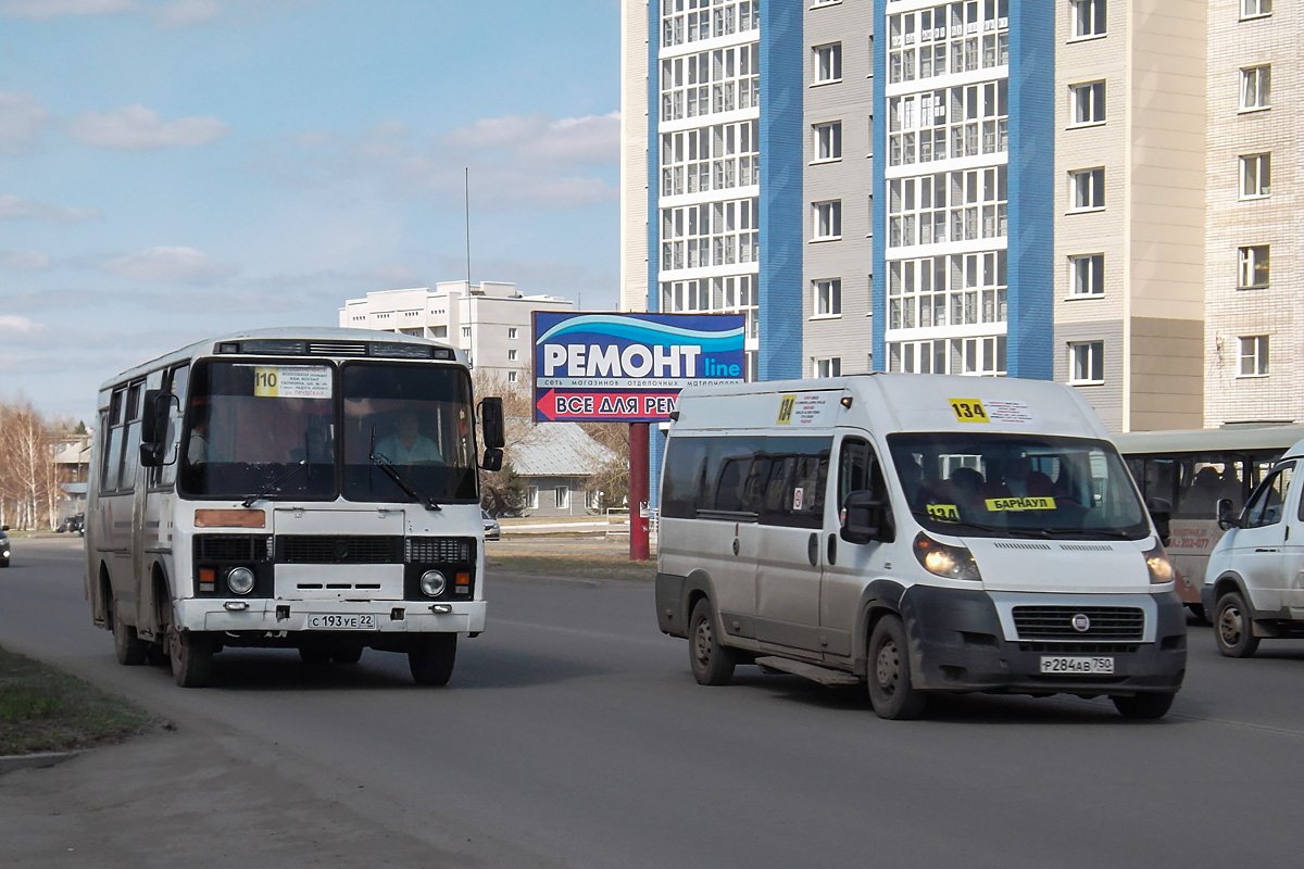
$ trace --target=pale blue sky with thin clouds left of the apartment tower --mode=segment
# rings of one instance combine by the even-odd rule
[[[619,0],[0,0],[0,401],[467,276],[618,307]]]

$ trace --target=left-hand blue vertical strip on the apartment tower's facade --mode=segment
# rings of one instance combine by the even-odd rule
[[[760,10],[760,275],[762,380],[802,375],[802,43],[805,3]]]

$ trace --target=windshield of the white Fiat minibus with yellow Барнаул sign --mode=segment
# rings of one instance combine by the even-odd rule
[[[1000,433],[908,433],[888,447],[910,511],[944,534],[1141,539],[1146,512],[1103,440]]]

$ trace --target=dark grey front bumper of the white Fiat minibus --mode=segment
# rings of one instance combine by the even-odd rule
[[[1088,598],[1021,595],[1029,606],[1072,611],[1065,625],[1076,610],[1090,614],[1111,607],[1141,608],[1150,624],[1140,638],[1063,636],[1076,631],[1067,627],[1052,627],[1056,636],[1021,636],[1008,618],[1003,620],[998,601],[987,591],[913,586],[901,599],[911,679],[917,688],[927,691],[1020,694],[1128,696],[1181,687],[1187,623],[1176,593],[1089,595],[1090,606],[1077,606],[1082,599]],[[1072,603],[1063,606],[1065,601]],[[1043,672],[1047,666],[1091,671]],[[1104,668],[1112,672],[1101,672]]]

